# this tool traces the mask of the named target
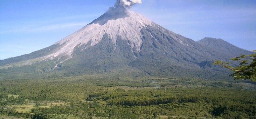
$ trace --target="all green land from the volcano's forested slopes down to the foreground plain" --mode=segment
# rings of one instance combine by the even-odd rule
[[[235,68],[217,62],[250,79],[234,81],[213,60],[250,51],[221,39],[195,42],[161,26],[140,32],[140,48],[105,34],[93,46],[93,39],[77,45],[72,58],[43,60],[63,43],[0,60],[0,119],[256,118],[255,54],[233,58],[241,61]]]

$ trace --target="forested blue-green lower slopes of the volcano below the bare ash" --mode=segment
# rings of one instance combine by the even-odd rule
[[[159,28],[161,27],[159,26]],[[0,79],[56,78],[120,73],[120,70],[122,70],[121,73],[127,72],[129,77],[133,78],[156,76],[208,80],[232,79],[226,75],[227,69],[213,65],[213,61],[215,59],[227,61],[229,58],[238,56],[238,53],[251,53],[235,46],[232,47],[229,43],[223,43],[223,40],[217,42],[217,44],[225,44],[220,48],[222,50],[219,50],[217,44],[207,47],[207,45],[201,45],[202,43],[194,42],[183,36],[166,32],[164,29],[159,31],[155,27],[144,28],[141,32],[145,35],[142,37],[143,42],[140,48],[131,48],[132,44],[121,37],[118,37],[114,44],[106,34],[103,36],[103,40],[91,47],[88,46],[92,41],[75,47],[70,59],[67,56],[61,56],[41,61],[43,60],[40,58],[41,56],[58,51],[65,45],[63,43],[31,54],[1,60]],[[173,35],[175,37],[172,37]],[[215,40],[211,39],[210,41]],[[215,44],[215,42],[210,44]],[[136,49],[140,49],[140,51],[138,52]]]

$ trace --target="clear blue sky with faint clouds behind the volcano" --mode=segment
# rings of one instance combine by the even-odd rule
[[[0,0],[0,60],[50,46],[105,13],[115,0]],[[131,10],[198,41],[256,50],[255,0],[142,0]]]

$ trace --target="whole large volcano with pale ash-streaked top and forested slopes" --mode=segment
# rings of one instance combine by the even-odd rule
[[[217,47],[218,43],[223,47]],[[227,50],[229,47],[235,51]],[[52,46],[1,60],[0,72],[2,78],[6,78],[5,74],[66,76],[108,72],[217,78],[226,75],[226,70],[212,62],[227,61],[239,56],[238,52],[251,53],[221,39],[195,42],[138,13],[112,7]]]

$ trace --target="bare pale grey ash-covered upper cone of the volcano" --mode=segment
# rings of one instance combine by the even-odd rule
[[[102,40],[105,34],[113,40],[114,46],[116,46],[117,37],[121,37],[127,40],[131,48],[136,47],[136,50],[139,51],[142,44],[140,31],[145,26],[153,25],[154,23],[150,20],[132,11],[127,11],[121,16],[120,13],[113,16],[113,14],[107,12],[82,29],[55,43],[65,45],[56,53],[50,54],[45,58],[63,55],[72,56],[76,46],[89,42],[84,49],[94,46]]]

